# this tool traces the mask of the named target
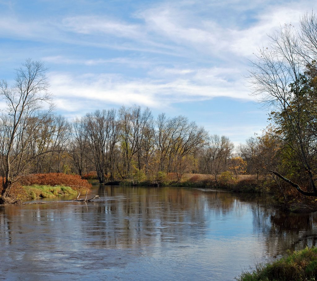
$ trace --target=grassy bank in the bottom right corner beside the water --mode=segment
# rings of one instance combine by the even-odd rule
[[[256,270],[243,272],[237,280],[317,280],[317,247],[306,247],[271,264],[257,265]]]

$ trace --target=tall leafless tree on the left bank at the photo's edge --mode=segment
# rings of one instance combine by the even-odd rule
[[[4,80],[0,82],[0,95],[7,104],[0,115],[3,144],[1,202],[8,197],[11,184],[34,159],[34,155],[29,153],[29,136],[45,123],[52,110],[46,70],[42,62],[28,59],[16,70],[12,87]],[[43,110],[44,106],[48,109]]]

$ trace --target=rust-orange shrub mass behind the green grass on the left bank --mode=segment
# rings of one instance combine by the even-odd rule
[[[23,185],[68,185],[78,192],[86,192],[91,189],[91,184],[79,175],[66,175],[64,173],[32,174],[21,180]]]

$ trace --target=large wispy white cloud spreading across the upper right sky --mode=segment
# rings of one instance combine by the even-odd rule
[[[213,8],[214,4],[211,4]],[[235,7],[240,6],[240,10],[249,7],[241,1],[233,1],[233,4]],[[257,5],[260,4],[261,1],[258,1]],[[228,1],[226,5],[229,6]],[[292,23],[297,26],[300,16],[311,9],[311,2],[307,1],[304,5],[290,2],[282,3],[281,6],[263,7],[261,12],[254,15],[254,22],[243,28],[235,24],[220,25],[219,18],[200,17],[194,9],[196,6],[189,5],[186,8],[165,3],[142,11],[137,16],[144,20],[146,30],[151,30],[170,44],[181,45],[187,51],[194,48],[209,58],[217,56],[232,61],[235,58],[232,56],[251,57],[258,46],[267,44],[267,34],[272,34],[280,24]]]

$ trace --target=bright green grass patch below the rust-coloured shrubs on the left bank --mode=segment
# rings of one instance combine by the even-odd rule
[[[73,190],[69,186],[49,186],[49,185],[31,185],[31,186],[23,186],[27,197],[29,199],[37,199],[37,198],[49,198],[60,195],[71,195],[77,194],[77,191]]]

